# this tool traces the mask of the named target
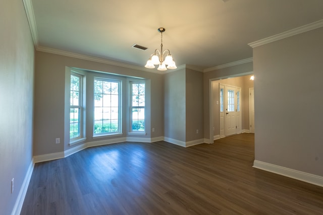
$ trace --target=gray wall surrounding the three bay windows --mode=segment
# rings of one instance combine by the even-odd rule
[[[69,150],[69,136],[64,138],[64,107],[65,107],[65,73],[66,66],[82,68],[86,70],[103,71],[111,74],[119,74],[129,77],[139,77],[149,80],[150,89],[150,116],[147,116],[147,135],[144,137],[164,136],[164,82],[163,75],[149,73],[116,65],[109,65],[94,61],[88,61],[73,57],[50,54],[36,51],[35,61],[35,102],[34,102],[34,156],[58,153]],[[103,73],[103,74],[104,74]],[[89,75],[87,81],[93,80],[94,75]],[[89,83],[88,82],[88,83]],[[91,88],[91,86],[88,86]],[[91,95],[87,95],[88,99]],[[124,107],[124,111],[126,111]],[[87,111],[87,114],[93,114]],[[125,116],[125,115],[124,115]],[[91,119],[91,117],[89,117]],[[124,117],[126,120],[126,117]],[[91,120],[87,120],[91,123]],[[123,123],[125,125],[126,123]],[[147,125],[149,127],[147,127]],[[151,127],[155,132],[151,132]],[[92,139],[92,126],[87,126],[87,141]],[[127,132],[124,127],[123,136]],[[55,144],[55,138],[61,138],[61,144]],[[109,139],[104,137],[102,139]],[[115,137],[114,137],[115,138]],[[64,141],[62,141],[64,139]],[[102,140],[95,139],[95,140]]]

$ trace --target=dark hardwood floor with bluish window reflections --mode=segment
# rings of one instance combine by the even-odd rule
[[[252,168],[254,135],[93,147],[35,164],[21,214],[323,214],[323,187]]]

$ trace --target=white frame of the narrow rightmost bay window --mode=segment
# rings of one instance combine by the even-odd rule
[[[133,106],[133,84],[144,84],[145,86],[145,90],[144,90],[144,106]],[[139,94],[138,94],[139,95]],[[134,108],[141,108],[144,110],[144,129],[143,130],[133,130],[133,126],[132,126],[132,123],[133,123],[133,109]],[[130,134],[135,134],[135,133],[138,133],[138,134],[145,134],[146,133],[146,81],[144,80],[140,80],[140,81],[130,81],[129,82],[129,133]]]

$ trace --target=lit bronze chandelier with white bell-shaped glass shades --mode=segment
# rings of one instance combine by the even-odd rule
[[[158,49],[155,49],[155,52],[150,55],[145,67],[155,68],[155,65],[159,64],[157,69],[160,71],[165,71],[168,68],[169,69],[177,68],[170,50],[166,49],[163,52],[163,32],[165,32],[165,28],[158,28],[157,31],[160,32],[161,34],[160,51]]]

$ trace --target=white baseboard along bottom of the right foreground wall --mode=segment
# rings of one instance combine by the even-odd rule
[[[257,160],[253,161],[253,167],[323,187],[323,177],[318,175],[313,175]]]

